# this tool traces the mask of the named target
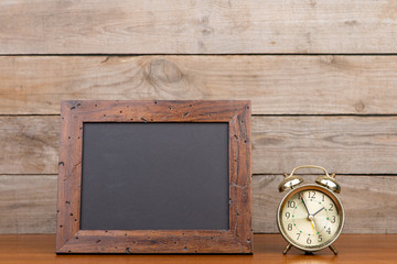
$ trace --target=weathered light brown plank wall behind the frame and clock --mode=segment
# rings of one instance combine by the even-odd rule
[[[303,164],[341,175],[344,232],[397,232],[396,1],[2,0],[0,25],[1,233],[55,231],[65,99],[250,99],[255,232]]]

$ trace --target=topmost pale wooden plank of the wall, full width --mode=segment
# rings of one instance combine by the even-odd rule
[[[387,0],[3,0],[0,53],[396,53],[396,9]]]

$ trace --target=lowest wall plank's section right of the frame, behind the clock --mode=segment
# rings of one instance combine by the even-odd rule
[[[304,183],[314,183],[315,177],[305,176]],[[276,211],[287,194],[278,193],[282,178],[254,177],[254,232],[278,232]],[[343,233],[397,233],[397,176],[336,176],[336,180],[346,213]]]

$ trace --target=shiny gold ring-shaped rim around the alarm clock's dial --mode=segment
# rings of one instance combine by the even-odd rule
[[[304,248],[304,246],[301,246],[297,243],[294,243],[292,240],[289,239],[289,237],[286,234],[286,232],[283,231],[283,228],[281,227],[281,222],[280,222],[280,212],[281,212],[281,208],[283,208],[283,206],[286,205],[286,202],[289,200],[289,198],[291,196],[293,196],[294,194],[299,193],[299,191],[302,191],[302,190],[307,190],[307,189],[316,189],[316,190],[320,190],[320,191],[323,191],[332,200],[333,202],[335,204],[337,210],[340,211],[340,218],[342,219],[341,221],[341,224],[339,227],[339,230],[337,232],[335,233],[335,235],[328,242],[328,243],[324,243],[324,244],[321,244],[320,246],[313,246],[313,248]],[[297,249],[300,249],[302,251],[309,251],[309,252],[314,252],[314,251],[319,251],[319,250],[322,250],[322,249],[325,249],[328,246],[330,246],[333,242],[335,242],[335,240],[340,237],[340,234],[342,233],[342,230],[343,230],[343,227],[344,227],[344,222],[345,222],[345,213],[344,213],[344,208],[343,208],[343,205],[341,202],[341,200],[339,199],[339,197],[333,194],[331,190],[322,187],[322,186],[319,186],[319,185],[313,185],[313,184],[307,184],[307,185],[302,185],[302,186],[299,186],[297,188],[293,188],[291,189],[290,191],[288,191],[288,194],[282,198],[282,200],[280,201],[280,205],[278,206],[278,209],[277,209],[277,216],[276,216],[276,219],[277,219],[277,227],[282,235],[282,238],[288,242],[288,243],[291,243],[293,246],[296,246]]]

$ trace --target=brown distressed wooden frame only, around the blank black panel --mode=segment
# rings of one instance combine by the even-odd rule
[[[85,122],[227,122],[229,230],[81,230]],[[63,101],[56,253],[253,253],[249,101]]]

